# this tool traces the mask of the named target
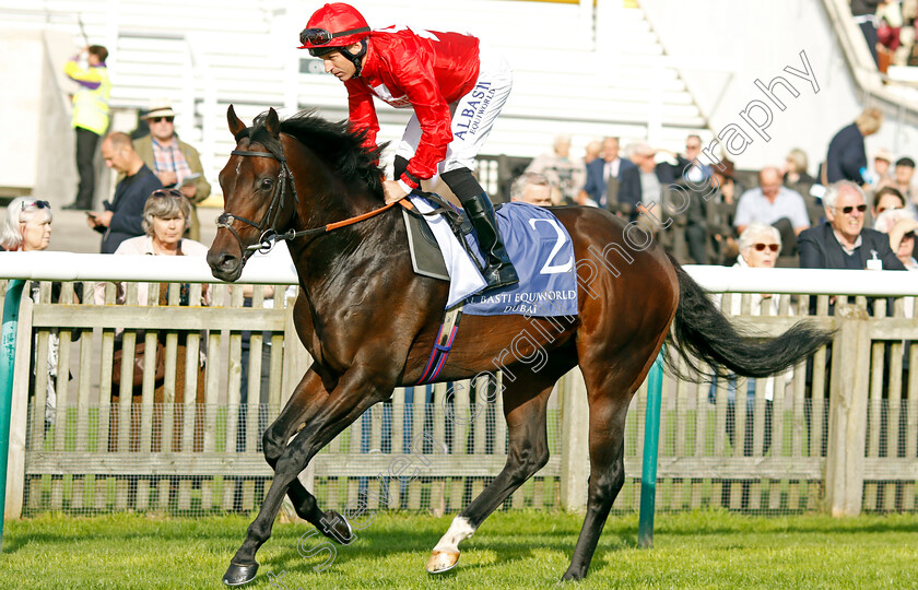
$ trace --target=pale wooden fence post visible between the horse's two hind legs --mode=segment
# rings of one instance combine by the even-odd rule
[[[565,375],[562,384],[561,506],[580,511],[587,507],[590,474],[587,386],[579,367]]]

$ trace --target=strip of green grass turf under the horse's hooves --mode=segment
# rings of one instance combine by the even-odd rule
[[[567,568],[581,518],[494,515],[462,544],[452,571],[429,577],[429,550],[451,517],[379,514],[333,562],[305,523],[276,523],[245,588],[543,588]],[[7,522],[0,588],[222,588],[248,517],[46,515]],[[918,515],[743,517],[657,515],[655,548],[636,547],[637,516],[613,516],[590,575],[570,588],[914,588]],[[299,551],[297,544],[299,543]],[[307,556],[304,556],[307,555]],[[273,583],[268,578],[285,573]]]

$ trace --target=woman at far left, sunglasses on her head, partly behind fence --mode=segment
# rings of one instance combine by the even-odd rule
[[[51,205],[48,201],[36,200],[32,197],[19,197],[13,199],[7,206],[7,217],[0,234],[0,250],[5,251],[36,251],[44,250],[51,240]],[[51,288],[52,299],[60,298],[60,283],[54,283]],[[57,291],[57,293],[54,293]],[[38,282],[30,285],[30,293],[34,300],[38,300]],[[37,335],[36,335],[37,339]],[[55,421],[55,408],[57,406],[57,393],[55,381],[58,376],[58,349],[60,341],[57,331],[48,337],[48,381],[45,388],[45,426],[50,426]],[[37,349],[35,349],[37,356]],[[35,357],[33,357],[33,364]],[[33,366],[33,375],[35,367]],[[33,389],[30,388],[30,391]]]

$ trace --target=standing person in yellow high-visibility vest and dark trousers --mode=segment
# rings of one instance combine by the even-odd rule
[[[80,84],[73,93],[73,116],[70,125],[76,132],[76,170],[80,173],[80,186],[76,198],[63,209],[89,210],[93,206],[95,194],[95,160],[98,138],[108,129],[108,98],[111,95],[111,82],[108,80],[108,50],[102,45],[90,45],[83,49],[87,68],[83,68],[74,56],[63,67],[63,73]]]

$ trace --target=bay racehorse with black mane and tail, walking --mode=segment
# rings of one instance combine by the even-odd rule
[[[314,358],[263,436],[273,483],[223,578],[242,585],[255,578],[256,552],[271,534],[284,494],[297,515],[327,536],[351,538],[346,520],[322,511],[296,476],[369,406],[389,399],[396,387],[419,381],[448,285],[413,272],[402,214],[397,206],[384,208],[379,150],[361,148],[363,137],[345,121],[308,113],[281,121],[270,109],[246,127],[232,106],[227,119],[236,149],[220,173],[225,208],[208,263],[215,278],[235,281],[262,243],[289,239],[301,287],[294,321]],[[590,479],[567,580],[586,576],[624,483],[628,403],[671,326],[670,350],[684,359],[748,377],[782,371],[832,337],[804,324],[775,339],[744,337],[658,245],[625,249],[626,226],[611,213],[581,206],[552,211],[573,240],[578,314],[462,319],[438,379],[495,370],[499,359],[507,462],[436,544],[427,562],[432,574],[454,567],[459,543],[548,462],[549,394],[575,366],[587,387]],[[530,338],[508,351],[508,335],[523,331]],[[544,355],[538,370],[536,354]]]

